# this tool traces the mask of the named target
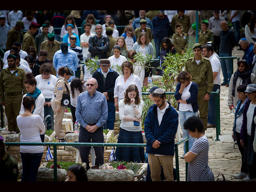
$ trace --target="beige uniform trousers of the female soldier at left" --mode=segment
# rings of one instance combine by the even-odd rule
[[[57,112],[57,105],[55,103],[55,98],[53,98],[52,99],[52,110],[53,110],[53,113],[54,113],[55,136],[58,137],[58,139],[64,139],[62,119],[63,119],[63,116],[64,116],[65,107],[60,106],[60,112]]]

